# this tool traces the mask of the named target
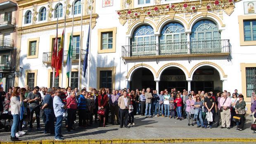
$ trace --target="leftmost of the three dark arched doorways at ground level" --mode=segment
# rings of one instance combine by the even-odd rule
[[[153,73],[147,68],[138,68],[133,72],[130,81],[130,88],[132,90],[150,87],[156,88],[156,82],[154,81]]]

